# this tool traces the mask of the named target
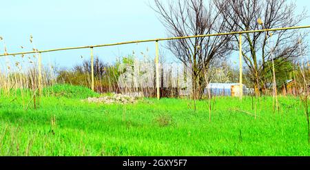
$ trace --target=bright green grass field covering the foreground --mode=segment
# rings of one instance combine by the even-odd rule
[[[23,107],[29,97],[2,95],[0,155],[310,156],[307,119],[298,98],[280,97],[276,113],[272,97],[254,100],[257,118],[251,97],[216,98],[209,122],[208,100],[198,101],[194,112],[186,99],[104,105],[70,93],[75,96],[43,96],[36,110]],[[96,96],[81,90],[85,93]]]

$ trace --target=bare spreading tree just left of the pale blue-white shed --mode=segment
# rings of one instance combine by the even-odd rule
[[[213,4],[204,0],[154,0],[154,10],[165,25],[168,36],[213,34],[227,30],[223,19]],[[192,95],[201,98],[208,80],[205,76],[216,59],[231,52],[232,36],[207,36],[168,41],[167,48],[192,70]]]

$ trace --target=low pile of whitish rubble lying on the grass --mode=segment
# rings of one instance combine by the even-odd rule
[[[87,98],[86,102],[90,103],[105,103],[105,104],[130,104],[136,103],[139,98],[143,98],[141,93],[131,93],[131,94],[112,94],[109,96],[101,96],[98,98]]]

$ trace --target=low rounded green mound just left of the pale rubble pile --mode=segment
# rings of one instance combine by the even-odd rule
[[[43,94],[61,96],[66,98],[87,98],[99,96],[91,89],[78,85],[53,85],[43,89]]]

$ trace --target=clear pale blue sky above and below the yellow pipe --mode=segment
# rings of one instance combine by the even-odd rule
[[[156,13],[149,8],[152,0],[0,0],[0,36],[8,52],[29,51],[30,34],[39,50],[80,45],[96,45],[138,39],[166,37],[165,28]],[[297,12],[310,1],[297,0]],[[304,25],[310,25],[306,21]],[[20,45],[25,46],[21,49]],[[105,62],[116,56],[141,51],[154,56],[154,43],[122,45],[94,49],[94,55]],[[3,54],[3,47],[0,47]],[[168,56],[169,52],[165,52]],[[81,55],[90,56],[89,50],[71,50],[43,54],[43,63],[57,63],[71,67],[81,62]]]

